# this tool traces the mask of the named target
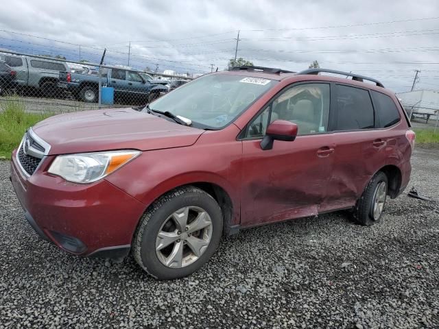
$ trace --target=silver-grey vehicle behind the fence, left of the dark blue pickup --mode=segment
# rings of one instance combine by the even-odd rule
[[[20,88],[32,88],[45,97],[56,97],[60,71],[69,71],[65,62],[40,57],[10,55],[0,53],[0,60],[16,72],[16,82]]]

